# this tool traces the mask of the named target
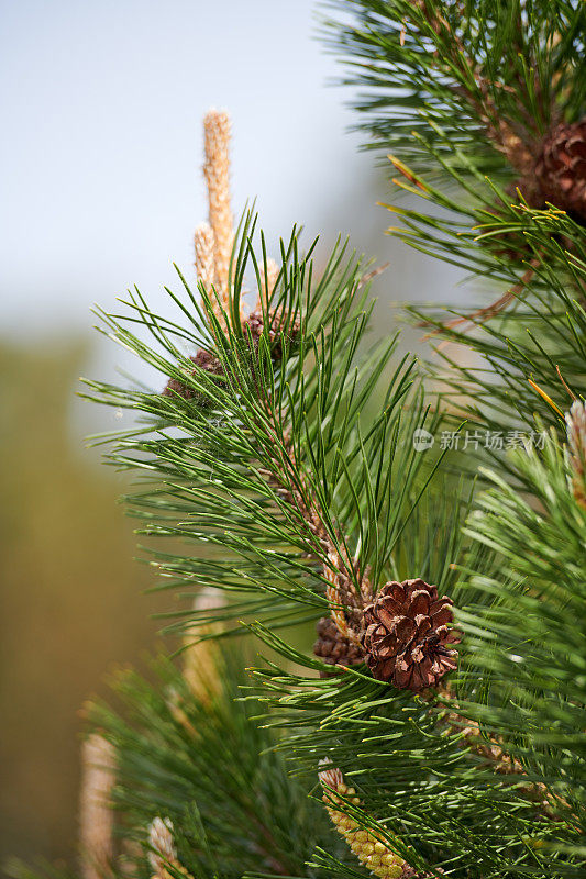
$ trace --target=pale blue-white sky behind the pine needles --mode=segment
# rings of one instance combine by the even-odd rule
[[[350,234],[390,260],[386,302],[453,298],[453,272],[384,235],[390,174],[349,132],[314,0],[0,0],[0,338],[88,331],[133,285],[165,309],[173,262],[192,279],[210,107],[269,248],[294,223]]]

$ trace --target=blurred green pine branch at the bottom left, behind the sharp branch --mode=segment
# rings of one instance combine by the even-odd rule
[[[312,839],[325,826],[321,810],[287,779],[270,752],[272,735],[237,700],[242,656],[224,654],[217,663],[211,699],[194,698],[161,660],[157,688],[135,672],[114,681],[124,720],[104,704],[93,708],[93,722],[119,755],[120,831],[141,844],[139,864],[156,859],[156,875],[232,877],[264,868],[305,876]],[[165,845],[163,831],[153,835],[162,824],[173,828]]]

